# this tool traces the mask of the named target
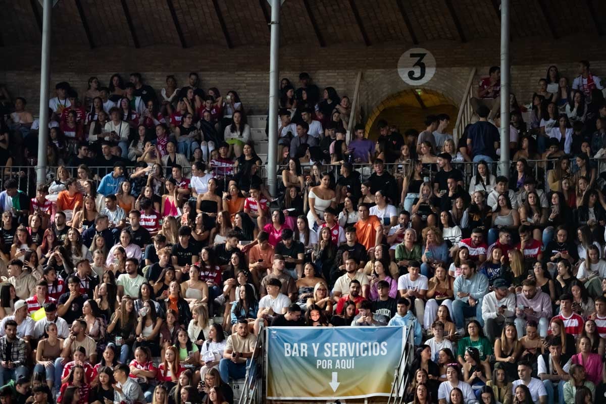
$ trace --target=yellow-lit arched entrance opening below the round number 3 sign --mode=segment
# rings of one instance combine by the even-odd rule
[[[373,109],[366,122],[366,133],[369,139],[376,139],[379,136],[376,122],[380,119],[398,127],[402,134],[408,129],[422,131],[425,130],[425,116],[441,113],[450,116],[447,132],[452,133],[458,105],[438,91],[410,88],[391,94]]]

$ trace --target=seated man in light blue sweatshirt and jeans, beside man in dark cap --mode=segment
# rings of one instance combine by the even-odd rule
[[[458,334],[464,331],[465,317],[475,314],[479,326],[482,326],[482,300],[488,291],[488,278],[476,273],[473,261],[467,260],[461,264],[461,268],[463,273],[454,280],[453,317]]]

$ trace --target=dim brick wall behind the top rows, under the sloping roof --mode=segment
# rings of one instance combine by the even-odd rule
[[[554,53],[548,47],[537,48],[525,41],[514,41],[511,44],[511,90],[518,101],[530,102],[538,79],[545,76],[550,64],[558,65],[561,73],[571,79],[576,76],[576,61],[588,58],[594,73],[606,76],[606,58],[598,47],[588,47],[586,43],[579,38],[567,37],[557,43],[565,51]],[[387,42],[371,47],[344,45],[319,48],[310,44],[307,53],[284,47],[281,49],[280,77],[290,78],[296,85],[298,73],[308,71],[319,87],[331,85],[339,94],[351,96],[358,70],[362,70],[360,102],[362,112],[368,116],[388,96],[411,88],[397,72],[399,56],[406,47],[396,45],[396,42]],[[499,64],[498,42],[494,39],[478,39],[473,44],[433,41],[424,46],[435,56],[438,68],[433,79],[423,88],[438,91],[454,105],[461,100],[471,67],[478,69],[477,81],[487,74],[490,65]],[[3,67],[0,82],[6,84],[14,96],[27,98],[30,108],[37,114],[39,50],[24,47],[17,51],[7,47],[5,54],[14,57],[0,62]],[[242,46],[233,50],[220,46],[186,50],[158,45],[141,49],[102,47],[88,50],[72,47],[68,52],[59,47],[53,49],[51,93],[54,92],[54,83],[63,80],[80,91],[89,76],[98,76],[103,84],[107,84],[116,71],[124,76],[130,71],[140,71],[145,80],[159,90],[168,74],[175,75],[180,85],[185,84],[190,70],[199,71],[204,88],[218,87],[222,93],[238,91],[248,111],[264,113],[267,110],[267,47]]]

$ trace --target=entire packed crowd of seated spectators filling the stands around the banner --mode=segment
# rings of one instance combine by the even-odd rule
[[[346,96],[282,79],[276,195],[238,93],[196,73],[159,92],[138,73],[60,82],[48,130],[4,102],[2,404],[232,403],[261,325],[406,325],[414,404],[604,397],[606,102],[589,66],[572,85],[550,66],[528,107],[511,94],[508,145],[498,67],[461,139],[439,114],[348,141]]]

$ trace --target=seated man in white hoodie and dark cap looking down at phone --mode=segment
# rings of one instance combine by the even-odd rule
[[[494,290],[482,300],[482,319],[484,319],[484,334],[494,341],[501,335],[505,320],[515,316],[516,295],[509,292],[507,280],[497,278],[493,282]]]

